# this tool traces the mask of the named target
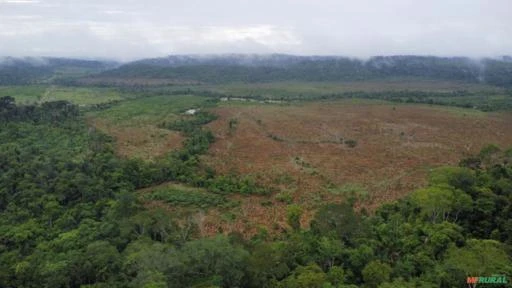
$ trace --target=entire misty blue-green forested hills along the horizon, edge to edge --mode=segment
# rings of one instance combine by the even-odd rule
[[[165,79],[168,83],[361,81],[419,77],[512,88],[512,57],[471,59],[435,56],[342,56],[286,54],[171,55],[125,64],[51,57],[0,57],[0,85],[80,83],[80,79]],[[96,81],[98,80],[98,81]],[[107,82],[108,82],[107,81]],[[93,84],[94,85],[94,84]]]

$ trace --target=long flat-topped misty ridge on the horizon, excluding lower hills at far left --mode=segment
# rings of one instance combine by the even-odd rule
[[[512,86],[511,57],[341,56],[285,54],[171,55],[134,61],[99,77],[163,78],[205,83],[346,81],[425,77]]]

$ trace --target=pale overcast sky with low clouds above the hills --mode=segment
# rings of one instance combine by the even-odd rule
[[[512,0],[0,0],[0,56],[512,55]]]

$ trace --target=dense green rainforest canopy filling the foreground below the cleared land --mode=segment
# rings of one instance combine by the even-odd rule
[[[193,217],[144,208],[135,190],[165,181],[215,199],[271,192],[200,163],[213,119],[162,123],[186,140],[147,163],[116,156],[73,104],[0,98],[0,287],[464,287],[512,275],[512,150],[494,145],[372,213],[348,197],[303,227],[289,205],[278,236],[202,238]]]

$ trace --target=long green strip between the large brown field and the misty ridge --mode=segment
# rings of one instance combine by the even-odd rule
[[[371,99],[475,108],[482,111],[512,109],[510,90],[484,84],[416,78],[352,82],[234,83],[206,87],[226,97],[252,98],[259,101]],[[200,88],[201,86],[194,89]]]

